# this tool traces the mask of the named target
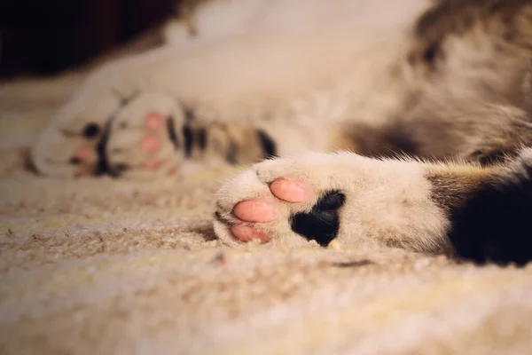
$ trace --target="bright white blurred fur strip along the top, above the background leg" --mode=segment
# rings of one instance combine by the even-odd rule
[[[356,24],[381,28],[411,21],[428,0],[216,0],[193,13],[194,37],[177,22],[168,25],[168,43],[184,47],[192,42],[213,43],[250,33],[285,36],[287,32]],[[193,38],[193,39],[192,39]]]

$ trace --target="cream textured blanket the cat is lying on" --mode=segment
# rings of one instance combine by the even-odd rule
[[[210,217],[229,168],[35,177],[24,147],[75,83],[0,87],[0,353],[532,353],[532,265],[224,248]]]

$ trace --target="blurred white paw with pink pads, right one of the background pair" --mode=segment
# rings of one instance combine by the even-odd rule
[[[131,99],[109,122],[102,159],[113,177],[172,175],[184,159],[184,108],[164,94]]]

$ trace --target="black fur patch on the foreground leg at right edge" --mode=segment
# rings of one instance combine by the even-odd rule
[[[478,264],[524,265],[532,260],[531,153],[521,154],[453,211],[449,238],[459,257]]]

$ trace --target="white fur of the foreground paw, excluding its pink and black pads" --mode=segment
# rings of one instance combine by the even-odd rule
[[[353,248],[372,238],[381,245],[447,251],[449,221],[430,199],[431,184],[425,174],[426,165],[421,162],[380,161],[349,153],[308,153],[261,162],[231,179],[218,193],[217,211],[228,223],[215,221],[215,232],[224,242],[238,244],[229,230],[237,222],[232,210],[239,201],[260,199],[275,207],[278,218],[256,224],[254,229],[268,233],[274,244],[301,244],[304,240],[291,230],[290,216],[308,212],[321,193],[340,190],[346,202],[340,208],[337,241],[344,247]],[[274,198],[269,184],[278,177],[303,184],[306,201]]]

